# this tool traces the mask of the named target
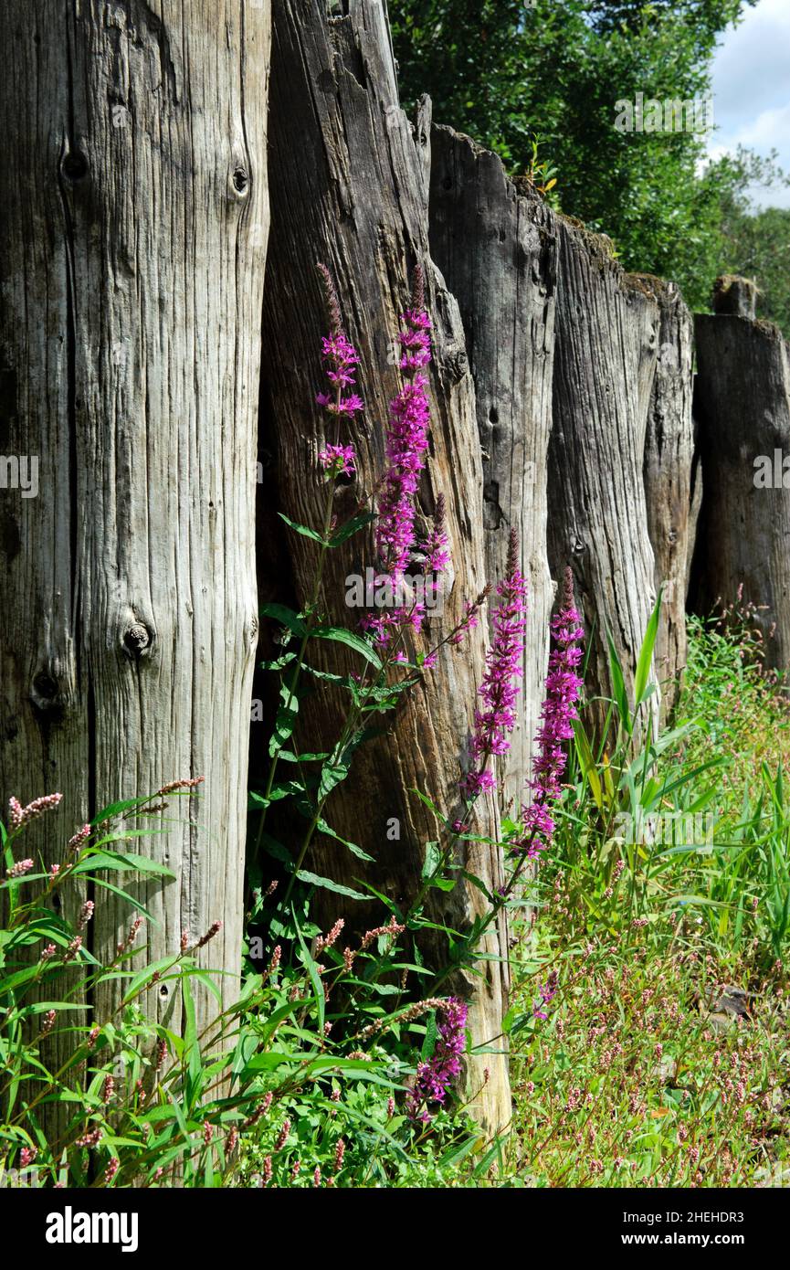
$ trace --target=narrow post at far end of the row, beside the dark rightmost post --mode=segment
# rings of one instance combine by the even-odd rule
[[[693,547],[693,323],[673,283],[657,278],[649,282],[659,306],[660,325],[648,410],[644,480],[655,587],[663,587],[654,660],[666,720],[677,701],[686,665],[686,579]]]

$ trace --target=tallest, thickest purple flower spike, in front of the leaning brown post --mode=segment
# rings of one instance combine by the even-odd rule
[[[422,368],[431,362],[431,319],[424,304],[423,273],[418,267],[414,271],[412,307],[401,318],[406,328],[399,335],[404,385],[390,403],[387,470],[376,527],[376,550],[382,572],[394,582],[403,578],[414,547],[414,498],[419,474],[425,466],[431,427],[428,378],[422,373]]]

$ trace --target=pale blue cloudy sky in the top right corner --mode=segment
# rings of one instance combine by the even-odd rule
[[[713,155],[738,142],[779,150],[790,173],[790,0],[760,0],[729,28],[714,61]],[[753,190],[758,206],[790,207],[790,187]]]

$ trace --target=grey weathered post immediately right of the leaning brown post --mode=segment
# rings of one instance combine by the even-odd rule
[[[451,128],[433,130],[431,171],[431,250],[459,301],[475,381],[488,577],[504,577],[514,528],[530,584],[519,719],[500,763],[505,804],[518,812],[544,700],[554,594],[546,462],[556,221],[528,182],[511,182],[497,155]]]

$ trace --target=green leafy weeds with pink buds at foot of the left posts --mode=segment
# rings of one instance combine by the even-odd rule
[[[198,1034],[194,988],[217,1002],[220,993],[216,974],[199,968],[196,954],[218,923],[201,940],[184,936],[180,949],[154,964],[146,961],[138,917],[103,961],[83,945],[91,902],[76,926],[55,912],[53,897],[67,895],[77,876],[94,886],[109,886],[110,876],[166,883],[170,874],[155,861],[108,847],[159,832],[133,827],[150,803],[105,809],[93,834],[67,848],[50,872],[25,860],[14,875],[25,826],[0,824],[8,899],[0,928],[4,1185],[437,1182],[441,1151],[483,1139],[459,1111],[442,1111],[429,1124],[404,1111],[417,1055],[433,1052],[437,1002],[400,1003],[392,977],[420,973],[398,949],[403,927],[340,955],[333,940],[319,946],[318,928],[292,908],[279,927],[290,936],[286,956],[278,945],[264,973],[248,963],[239,999],[217,1007],[215,1022]],[[110,820],[118,823],[113,832]],[[123,886],[112,889],[144,912]],[[180,1030],[154,1021],[163,984],[180,997]],[[107,1017],[94,1008],[102,986],[121,993]],[[331,1003],[335,993],[342,1005]],[[43,1128],[47,1115],[52,1124],[55,1105],[62,1120],[57,1139]]]

